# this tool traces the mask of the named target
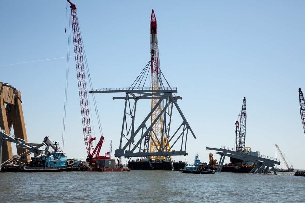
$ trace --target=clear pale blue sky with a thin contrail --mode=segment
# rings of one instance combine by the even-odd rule
[[[305,169],[298,96],[299,87],[305,90],[304,1],[71,2],[77,7],[93,89],[131,86],[150,59],[154,9],[161,69],[170,86],[177,87],[178,105],[196,135],[188,137],[188,156],[176,161],[193,163],[198,153],[208,162],[210,152],[219,160],[206,147],[235,148],[235,121],[245,96],[246,147],[277,156],[277,167],[286,168],[277,144],[289,167]],[[74,50],[68,54],[64,31],[69,18],[64,0],[0,1],[0,81],[22,93],[28,141],[49,136],[61,142],[69,64],[64,150],[68,158],[85,159]],[[101,155],[113,140],[112,158],[124,112],[124,101],[114,96],[122,94],[95,95],[105,138]],[[100,136],[98,124],[91,124],[91,131]]]

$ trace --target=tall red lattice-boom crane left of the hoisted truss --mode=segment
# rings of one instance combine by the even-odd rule
[[[86,161],[95,163],[96,159],[110,159],[110,158],[106,156],[99,156],[99,152],[101,151],[103,145],[104,136],[101,136],[98,144],[91,153],[91,148],[93,149],[92,141],[95,140],[96,138],[91,137],[83,52],[81,46],[81,35],[79,32],[76,6],[72,4],[70,0],[67,0],[67,2],[69,2],[71,5],[70,8],[71,8],[71,16],[72,16],[72,32],[73,32],[74,53],[75,53],[76,71],[77,71],[77,80],[78,80],[78,91],[81,102],[81,117],[83,122],[84,141],[88,153]]]

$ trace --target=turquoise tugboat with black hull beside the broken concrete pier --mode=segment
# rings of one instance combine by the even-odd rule
[[[46,138],[47,139],[47,138]],[[55,146],[54,146],[55,145]],[[66,153],[60,151],[56,142],[52,145],[54,151],[48,152],[46,155],[40,153],[35,157],[31,157],[29,163],[24,163],[21,159],[13,157],[7,161],[1,168],[2,172],[57,172],[71,171],[74,166],[74,160],[68,160]]]

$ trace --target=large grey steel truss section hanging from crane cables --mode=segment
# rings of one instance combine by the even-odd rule
[[[181,96],[173,96],[173,93],[177,93],[176,88],[171,89],[99,89],[95,91],[90,91],[89,93],[114,93],[121,92],[126,93],[126,97],[113,97],[113,99],[124,99],[124,116],[121,129],[120,137],[120,149],[115,150],[115,156],[125,158],[130,157],[150,157],[150,156],[164,156],[170,159],[170,156],[186,156],[186,143],[188,132],[191,132],[193,137],[196,139],[194,132],[186,121],[181,109],[177,104],[178,99],[182,99]],[[140,99],[149,99],[152,98],[158,99],[158,102],[153,106],[151,111],[146,115],[142,123],[136,128],[135,126],[135,117],[136,117],[136,107],[137,102]],[[160,103],[164,102],[164,107],[161,108],[160,114],[157,115],[153,122],[150,122],[149,119],[156,108],[160,106]],[[162,106],[162,105],[161,105]],[[173,109],[176,107],[181,118],[182,123],[176,129],[173,135],[170,134],[170,127],[172,121]],[[129,115],[129,116],[127,116]],[[162,134],[160,139],[153,140],[152,135],[155,135],[153,125],[157,120],[162,116]],[[131,121],[130,121],[131,120]],[[149,121],[149,122],[148,122]],[[149,124],[148,124],[149,123]],[[146,144],[145,144],[146,137]],[[152,140],[154,145],[157,148],[156,152],[149,152],[147,150],[147,139]],[[156,138],[156,137],[155,137]],[[162,140],[166,140],[165,144],[162,144]],[[170,143],[170,148],[168,148],[168,143]],[[146,147],[145,147],[146,146]],[[158,147],[157,147],[158,146]],[[178,146],[174,148],[174,146]],[[174,150],[178,149],[178,150]]]

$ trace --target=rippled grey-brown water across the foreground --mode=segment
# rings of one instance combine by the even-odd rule
[[[294,173],[0,173],[0,202],[305,202]]]

